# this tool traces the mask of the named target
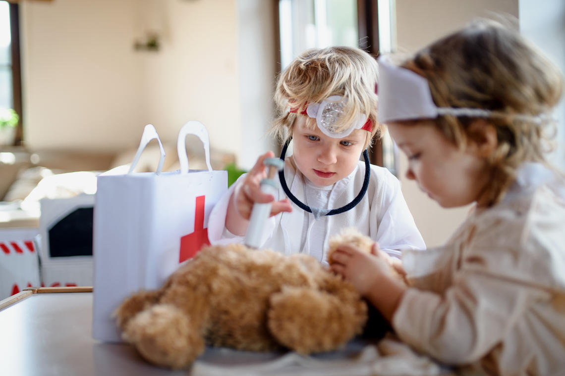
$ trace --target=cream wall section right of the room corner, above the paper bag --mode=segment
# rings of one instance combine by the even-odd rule
[[[162,50],[138,53],[144,121],[166,139],[176,139],[186,121],[201,121],[214,147],[240,154],[237,2],[144,1],[154,22],[163,19]]]

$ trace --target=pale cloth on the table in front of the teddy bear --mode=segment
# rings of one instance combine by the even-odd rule
[[[208,347],[194,362],[192,376],[455,376],[396,338],[378,344],[354,339],[331,352],[249,352]]]

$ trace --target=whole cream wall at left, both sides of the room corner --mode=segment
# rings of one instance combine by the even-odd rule
[[[241,153],[236,0],[22,2],[25,143],[114,151],[202,121]],[[158,52],[134,51],[147,29]]]

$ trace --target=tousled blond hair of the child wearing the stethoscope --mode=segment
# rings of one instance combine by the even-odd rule
[[[308,103],[320,103],[332,95],[347,99],[344,114],[338,119],[336,131],[347,129],[358,114],[363,114],[373,123],[372,132],[367,132],[365,147],[373,136],[380,135],[377,122],[377,63],[374,57],[360,48],[327,47],[312,48],[284,69],[277,79],[275,90],[276,113],[271,133],[285,143],[292,138],[294,122]],[[288,112],[297,108],[297,113]],[[314,129],[316,120],[307,117],[306,126]]]

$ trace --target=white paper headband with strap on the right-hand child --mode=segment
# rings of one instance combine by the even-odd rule
[[[390,64],[388,56],[379,58],[379,122],[434,119],[439,115],[469,117],[506,117],[503,112],[480,108],[437,107],[432,100],[428,80],[409,69]],[[518,120],[542,123],[547,116],[513,114]]]

